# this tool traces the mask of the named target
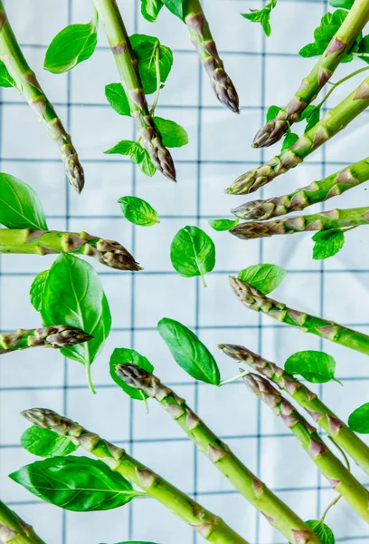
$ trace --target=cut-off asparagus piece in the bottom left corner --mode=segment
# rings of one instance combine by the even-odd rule
[[[45,544],[31,525],[24,523],[0,500],[0,544]]]

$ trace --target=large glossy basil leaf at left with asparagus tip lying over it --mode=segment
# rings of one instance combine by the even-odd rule
[[[111,326],[109,304],[95,269],[68,253],[57,257],[45,282],[41,315],[45,326],[65,323],[93,336],[90,342],[61,348],[62,355],[86,366],[90,384],[90,365]]]

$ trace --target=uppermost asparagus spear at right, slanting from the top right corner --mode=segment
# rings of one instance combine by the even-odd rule
[[[277,117],[265,124],[256,134],[253,147],[268,147],[279,141],[289,127],[301,116],[310,102],[313,102],[345,54],[351,49],[357,36],[369,21],[369,4],[366,0],[355,0],[345,21],[331,39],[313,70],[302,80],[301,86],[284,110]]]

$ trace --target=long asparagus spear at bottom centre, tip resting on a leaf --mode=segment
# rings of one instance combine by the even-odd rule
[[[304,521],[279,500],[261,482],[230,448],[222,442],[203,421],[187,406],[184,399],[162,384],[156,376],[135,364],[118,364],[116,372],[126,384],[156,399],[182,427],[213,465],[221,471],[233,486],[270,521],[270,524],[293,544],[319,543],[317,535]]]

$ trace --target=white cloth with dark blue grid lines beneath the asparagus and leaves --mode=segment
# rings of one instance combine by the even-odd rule
[[[127,160],[104,158],[101,154],[116,141],[129,138],[130,133],[135,135],[130,121],[112,112],[104,98],[104,85],[117,81],[117,75],[102,34],[94,57],[73,73],[52,76],[42,71],[43,55],[52,36],[63,25],[87,21],[90,0],[64,0],[58,4],[57,17],[48,0],[33,0],[33,6],[25,8],[23,0],[6,3],[24,53],[40,74],[45,91],[80,151],[87,185],[80,199],[77,198],[63,177],[61,161],[43,127],[37,126],[33,112],[11,90],[0,91],[2,169],[33,185],[43,199],[52,228],[84,229],[102,237],[118,238],[145,267],[139,275],[130,275],[98,265],[112,310],[113,328],[104,352],[92,368],[98,391],[95,397],[87,389],[80,365],[61,361],[57,353],[29,350],[26,354],[8,355],[0,366],[2,499],[14,505],[24,519],[33,521],[43,538],[52,544],[112,543],[125,539],[196,544],[200,539],[152,500],[137,500],[125,509],[79,515],[34,500],[27,491],[8,481],[9,472],[32,461],[18,444],[25,423],[17,413],[40,404],[80,420],[112,442],[124,444],[139,460],[222,515],[251,542],[282,544],[280,535],[198,455],[193,444],[167,421],[159,407],[152,405],[147,416],[141,404],[129,401],[111,383],[108,361],[117,346],[131,346],[147,355],[156,365],[156,374],[185,396],[251,470],[302,518],[318,518],[333,497],[326,481],[320,478],[283,424],[245,392],[242,384],[215,390],[187,380],[156,333],[156,323],[164,315],[194,329],[217,355],[224,377],[232,375],[237,367],[217,354],[216,345],[220,342],[247,345],[279,364],[301,349],[325,349],[336,357],[337,375],[345,385],[344,394],[336,384],[319,386],[326,403],[345,417],[359,403],[368,400],[369,370],[361,364],[364,355],[353,357],[345,348],[300,335],[248,312],[234,299],[227,282],[227,276],[242,267],[257,262],[279,264],[288,269],[289,275],[279,287],[277,298],[298,309],[319,312],[368,332],[369,258],[363,251],[364,228],[350,233],[349,243],[338,257],[319,263],[311,260],[308,236],[246,243],[231,239],[226,233],[210,232],[207,225],[207,219],[229,217],[235,200],[242,201],[242,197],[226,197],[222,189],[242,169],[270,157],[268,150],[251,150],[249,142],[264,119],[266,107],[286,102],[298,79],[307,73],[309,61],[302,62],[296,52],[310,40],[326,10],[326,2],[279,0],[270,40],[265,39],[258,25],[238,15],[249,7],[259,7],[260,2],[203,0],[203,4],[224,63],[240,90],[240,117],[226,112],[215,101],[196,53],[190,45],[187,48],[187,35],[180,22],[163,12],[153,26],[140,17],[138,0],[119,2],[129,31],[156,34],[175,52],[173,73],[158,108],[159,114],[183,124],[190,135],[190,144],[174,153],[179,174],[179,182],[174,186],[158,175],[147,180]],[[37,14],[41,13],[40,20]],[[304,26],[297,29],[301,14]],[[353,69],[353,65],[342,66],[340,77]],[[352,85],[349,83],[349,87],[343,86],[333,93],[326,108],[341,100]],[[261,196],[282,194],[364,157],[367,119],[364,113],[354,121],[348,135],[337,136],[298,170],[262,189]],[[364,188],[350,190],[345,195],[345,205],[361,205],[361,191]],[[127,194],[150,201],[160,213],[161,224],[140,229],[125,222],[119,214],[117,199]],[[342,205],[342,200],[336,202],[334,206]],[[195,279],[179,277],[170,265],[170,240],[186,224],[204,228],[216,243],[217,266],[208,277],[206,290]],[[52,257],[0,257],[2,332],[38,324],[39,317],[29,305],[28,290],[33,277],[51,262]],[[362,474],[355,468],[353,471],[363,481]],[[343,503],[332,511],[328,522],[335,529],[337,542],[367,539],[364,522],[357,520]]]

